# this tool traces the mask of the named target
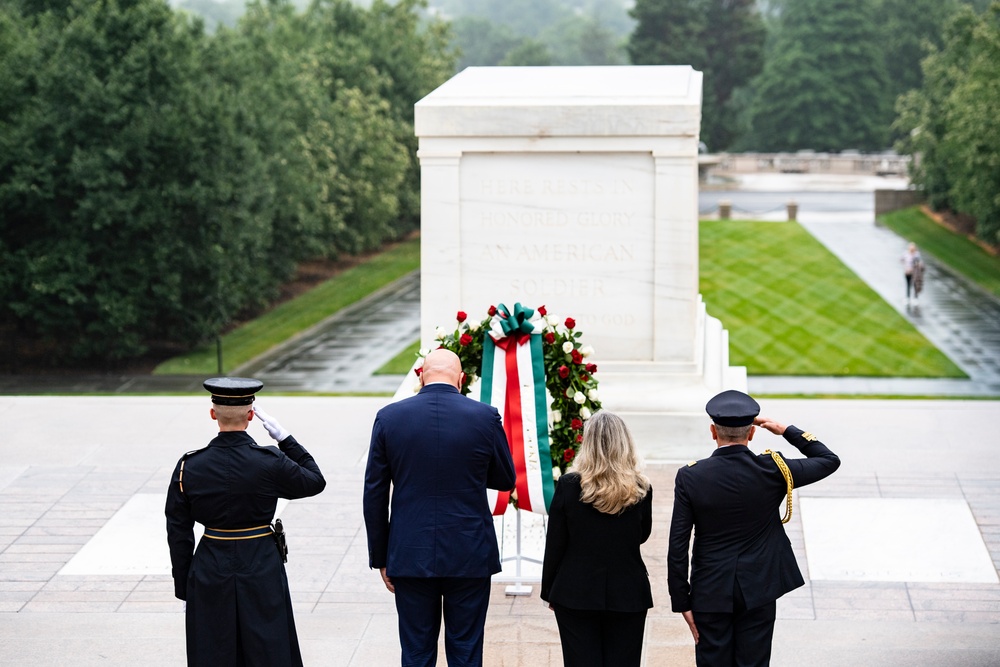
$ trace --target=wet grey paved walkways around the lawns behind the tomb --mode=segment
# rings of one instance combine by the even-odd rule
[[[760,394],[1000,396],[1000,300],[926,257],[925,292],[907,304],[899,258],[906,240],[875,224],[875,187],[900,179],[749,175],[739,189],[700,193],[702,215],[728,200],[736,219],[784,220],[794,200],[798,220],[968,376],[968,380],[751,376]],[[810,188],[805,190],[804,188]],[[313,329],[235,369],[284,392],[391,394],[400,375],[373,375],[419,338],[420,275],[414,272]],[[199,393],[201,376],[0,375],[0,394]]]

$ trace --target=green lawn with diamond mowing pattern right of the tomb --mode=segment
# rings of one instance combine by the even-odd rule
[[[965,377],[798,223],[705,220],[701,293],[751,375]]]

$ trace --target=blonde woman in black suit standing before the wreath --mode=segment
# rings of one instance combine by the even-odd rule
[[[638,667],[653,606],[639,545],[653,489],[621,417],[596,413],[549,509],[541,597],[555,611],[563,664]]]

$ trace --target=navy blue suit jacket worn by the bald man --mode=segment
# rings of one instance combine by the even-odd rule
[[[515,481],[493,406],[447,384],[387,405],[375,417],[365,471],[369,565],[389,577],[499,572],[486,489],[509,491]]]

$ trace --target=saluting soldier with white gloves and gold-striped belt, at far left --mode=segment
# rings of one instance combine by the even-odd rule
[[[205,381],[219,435],[177,462],[167,490],[174,593],[185,600],[188,665],[302,665],[284,554],[271,527],[278,498],[326,486],[319,466],[275,419],[253,407],[263,383]],[[278,446],[246,432],[254,416]],[[205,526],[195,551],[194,524]]]

